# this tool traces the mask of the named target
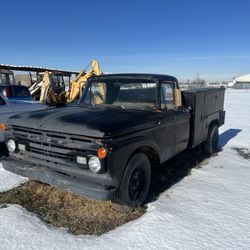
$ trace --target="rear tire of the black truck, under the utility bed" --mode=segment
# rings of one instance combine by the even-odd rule
[[[217,124],[210,126],[208,136],[204,142],[204,151],[207,155],[212,155],[218,151],[219,129]]]

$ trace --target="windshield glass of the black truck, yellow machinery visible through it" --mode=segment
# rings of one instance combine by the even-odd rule
[[[80,104],[113,105],[130,109],[155,109],[156,83],[147,79],[90,81]]]

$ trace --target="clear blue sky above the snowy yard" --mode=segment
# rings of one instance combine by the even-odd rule
[[[250,73],[248,0],[1,2],[0,63],[230,80]]]

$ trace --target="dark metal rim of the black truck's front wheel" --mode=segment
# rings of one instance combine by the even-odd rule
[[[142,169],[136,169],[129,181],[129,198],[131,201],[139,201],[145,188],[145,174]]]

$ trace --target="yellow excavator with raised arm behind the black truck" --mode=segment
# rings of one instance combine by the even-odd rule
[[[90,68],[89,71],[87,71],[88,68]],[[87,68],[77,75],[75,80],[71,83],[68,91],[60,91],[60,82],[55,84],[54,81],[55,73],[46,71],[43,73],[41,81],[40,102],[55,106],[74,102],[79,96],[81,96],[88,78],[92,75],[102,74],[103,72],[100,68],[99,62],[97,60],[92,60]]]

